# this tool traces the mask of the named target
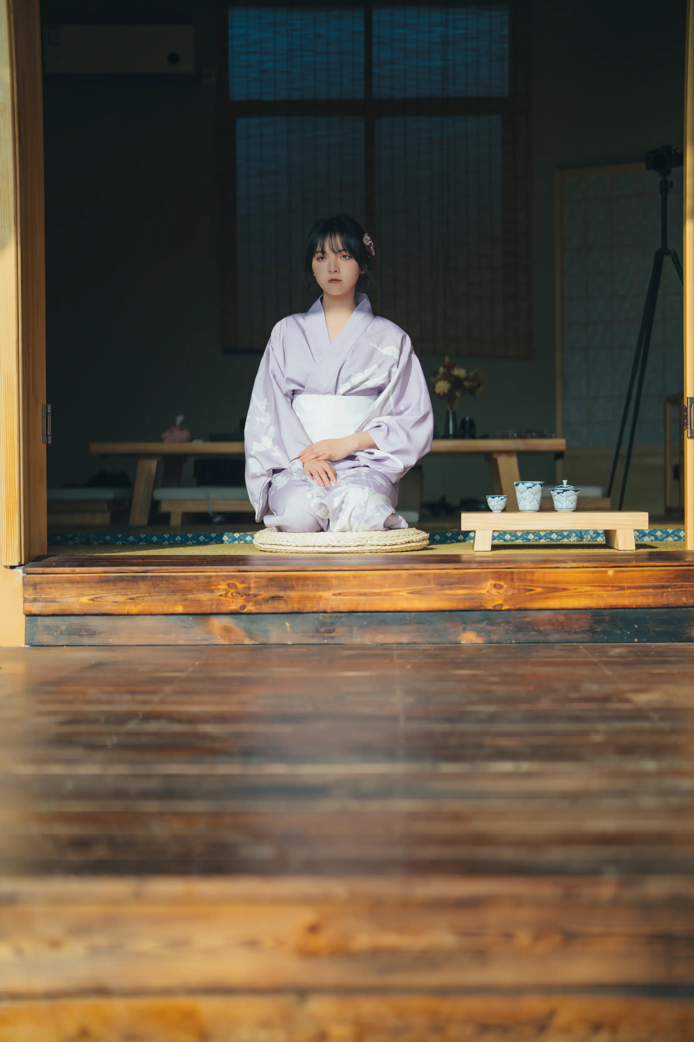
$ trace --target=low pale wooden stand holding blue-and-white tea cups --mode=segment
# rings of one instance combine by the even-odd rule
[[[605,530],[605,542],[614,550],[635,550],[635,528],[648,527],[648,515],[641,511],[518,511],[494,514],[480,511],[461,514],[460,527],[474,532],[474,549],[491,550],[495,531],[589,531]]]

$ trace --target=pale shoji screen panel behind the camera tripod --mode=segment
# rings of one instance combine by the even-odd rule
[[[672,171],[668,203],[668,238],[680,257],[682,173]],[[566,170],[558,178],[558,192],[564,435],[573,448],[613,448],[653,252],[660,245],[658,175],[642,163]],[[665,396],[683,392],[682,352],[682,284],[668,259],[663,266],[637,446],[663,445]]]

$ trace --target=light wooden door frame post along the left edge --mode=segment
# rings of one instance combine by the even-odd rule
[[[0,563],[46,553],[44,126],[38,0],[0,0]]]

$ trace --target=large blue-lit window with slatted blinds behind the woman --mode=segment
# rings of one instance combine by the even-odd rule
[[[227,350],[310,306],[306,234],[348,210],[377,245],[375,309],[420,352],[529,356],[523,17],[523,0],[228,7]]]

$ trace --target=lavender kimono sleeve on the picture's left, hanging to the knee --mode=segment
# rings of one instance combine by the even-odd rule
[[[286,470],[310,444],[291,407],[284,369],[284,322],[273,329],[253,384],[245,428],[246,488],[261,521],[273,474]]]

